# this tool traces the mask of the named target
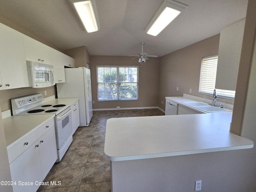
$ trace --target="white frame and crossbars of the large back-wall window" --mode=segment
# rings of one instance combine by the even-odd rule
[[[113,82],[99,82],[99,74],[98,74],[98,68],[116,68],[116,81]],[[131,82],[131,81],[125,81],[121,82],[120,81],[120,76],[119,76],[119,70],[120,68],[136,68],[137,74],[136,74],[136,82]],[[108,101],[134,101],[138,100],[138,71],[139,71],[139,66],[110,66],[110,65],[103,65],[103,66],[96,66],[96,78],[97,78],[97,101],[98,102],[108,102]],[[111,72],[110,72],[111,75]],[[99,98],[99,85],[100,84],[116,84],[116,98],[113,99],[100,99]],[[136,84],[136,98],[121,98],[120,96],[120,85],[121,84]]]

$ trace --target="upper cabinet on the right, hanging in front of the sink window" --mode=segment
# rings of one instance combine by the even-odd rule
[[[220,32],[217,89],[236,90],[245,19],[226,26]]]

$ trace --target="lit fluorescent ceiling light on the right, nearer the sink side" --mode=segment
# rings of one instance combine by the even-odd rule
[[[157,36],[170,22],[172,22],[183,10],[186,4],[174,0],[164,0],[152,20],[145,29],[147,34]]]

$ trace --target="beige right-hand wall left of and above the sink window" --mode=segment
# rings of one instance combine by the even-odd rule
[[[165,102],[161,104],[161,101],[165,101],[166,96],[183,96],[183,93],[198,96],[202,57],[218,54],[219,41],[220,34],[160,58],[160,108],[165,109]]]

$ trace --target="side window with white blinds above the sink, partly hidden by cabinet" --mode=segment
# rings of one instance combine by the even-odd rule
[[[218,55],[202,58],[199,83],[199,93],[213,94],[216,82]],[[235,91],[216,89],[217,96],[234,98]]]

